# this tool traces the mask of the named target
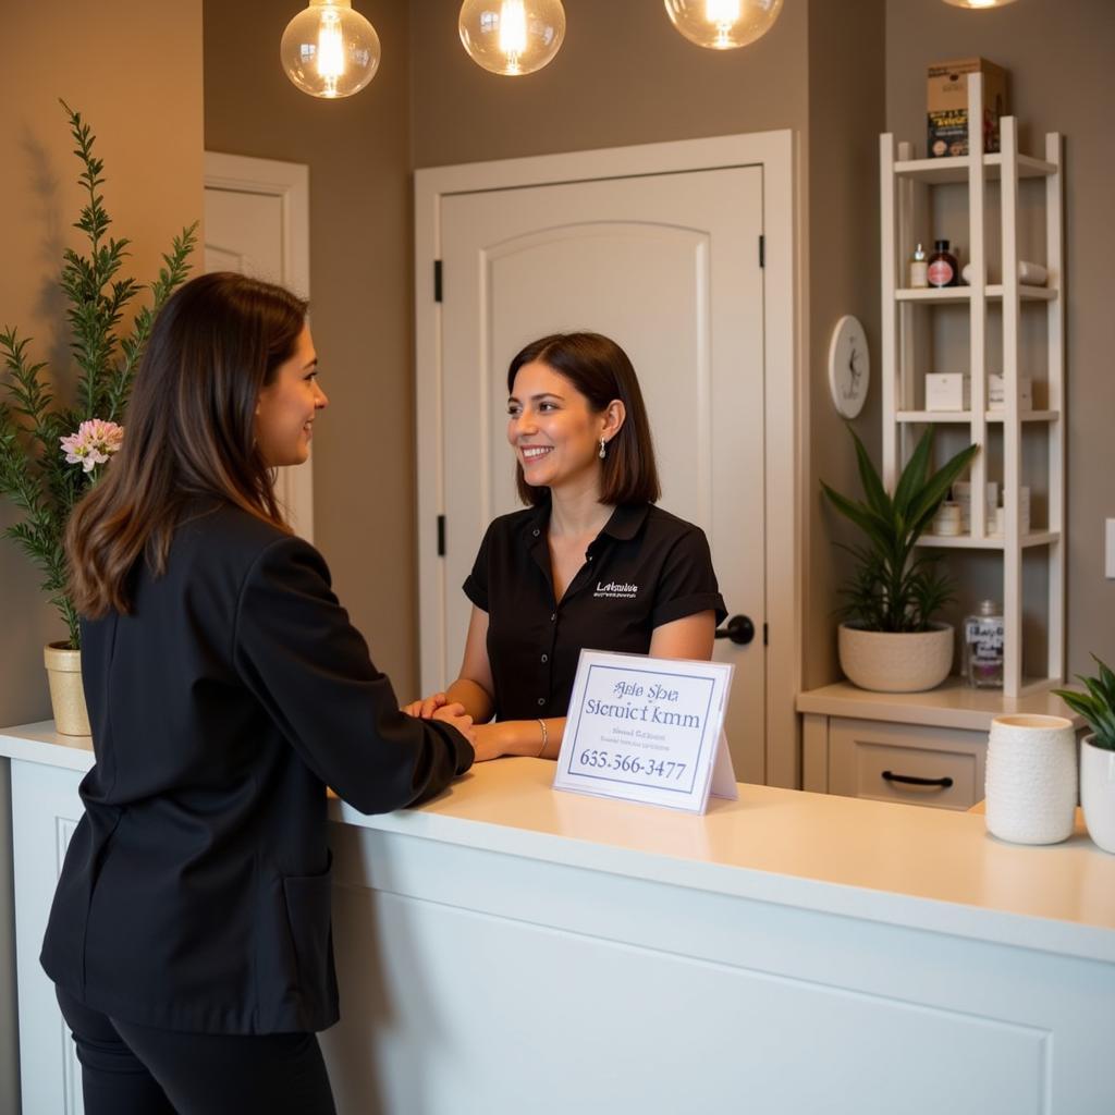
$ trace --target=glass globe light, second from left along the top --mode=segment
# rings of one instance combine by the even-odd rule
[[[561,49],[565,9],[561,0],[465,0],[457,29],[477,66],[520,77],[542,69]]]

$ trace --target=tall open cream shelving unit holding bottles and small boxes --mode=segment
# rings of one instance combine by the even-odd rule
[[[915,159],[910,144],[895,144],[890,134],[881,137],[883,478],[893,488],[927,424],[950,448],[966,442],[981,446],[970,475],[970,530],[960,536],[923,536],[921,544],[997,558],[998,581],[985,591],[993,591],[1004,605],[1004,696],[1010,698],[1048,688],[1064,676],[1061,138],[1045,137],[1044,158],[1022,155],[1016,120],[1004,117],[1001,151],[985,155],[978,74],[969,77],[968,97],[977,134],[969,136],[966,156]],[[1020,191],[1026,192],[1021,207]],[[963,240],[970,285],[910,289],[915,245],[931,246],[943,231]],[[1048,282],[1020,282],[1021,259],[1044,266]],[[970,376],[967,409],[925,408],[925,374],[946,371]],[[1000,408],[991,406],[991,375],[1004,377]],[[1024,377],[1034,384],[1028,408],[1021,400]],[[988,482],[996,482],[1002,495],[1006,522],[998,533],[978,497]],[[1031,525],[1025,531],[1024,486],[1032,496]],[[979,573],[986,582],[986,569],[973,578]],[[1044,637],[1044,655],[1024,657],[1024,627]],[[1024,677],[1024,662],[1031,676]]]

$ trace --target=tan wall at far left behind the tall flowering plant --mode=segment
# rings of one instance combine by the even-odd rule
[[[58,98],[81,112],[97,134],[113,232],[133,240],[129,273],[154,277],[161,252],[202,207],[201,2],[114,0],[112,7],[110,16],[85,0],[58,0],[49,10],[4,7],[4,35],[19,49],[9,50],[0,68],[7,144],[0,324],[35,338],[35,355],[51,360],[64,396],[74,379],[55,282],[62,248],[81,246],[70,224],[83,197]],[[168,43],[173,49],[165,49]],[[12,522],[10,504],[0,502],[0,525]],[[0,724],[45,719],[50,710],[40,648],[65,630],[42,604],[30,564],[8,541],[0,541]],[[7,901],[0,895],[0,935],[10,927]],[[7,961],[4,943],[0,957]],[[0,963],[0,1111],[17,1109],[13,1000],[7,963]]]

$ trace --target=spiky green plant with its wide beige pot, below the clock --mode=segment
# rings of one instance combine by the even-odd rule
[[[855,569],[841,590],[841,669],[862,689],[932,689],[952,667],[952,627],[933,619],[952,588],[939,555],[918,551],[917,543],[979,446],[969,445],[931,473],[933,430],[927,429],[891,495],[851,426],[849,433],[864,498],[852,500],[821,483],[833,507],[863,535],[859,544],[843,547]]]

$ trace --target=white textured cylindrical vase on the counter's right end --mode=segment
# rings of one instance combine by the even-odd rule
[[[987,748],[987,827],[1015,844],[1073,835],[1076,731],[1060,716],[997,716]]]

